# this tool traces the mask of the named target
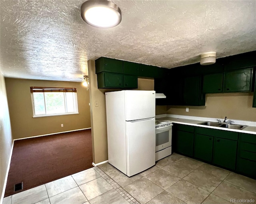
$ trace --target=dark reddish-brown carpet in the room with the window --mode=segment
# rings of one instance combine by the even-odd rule
[[[23,181],[23,190],[89,169],[92,166],[91,129],[14,142],[4,196]]]

